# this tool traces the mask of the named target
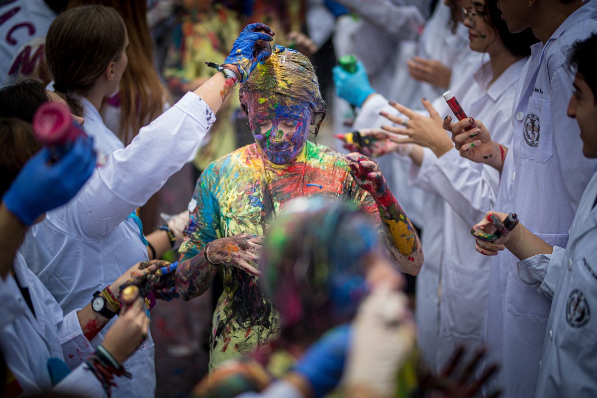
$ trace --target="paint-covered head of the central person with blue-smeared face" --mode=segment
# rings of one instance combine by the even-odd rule
[[[325,118],[325,101],[306,55],[275,45],[239,91],[249,128],[270,162],[284,165],[303,150],[310,125],[314,134]]]

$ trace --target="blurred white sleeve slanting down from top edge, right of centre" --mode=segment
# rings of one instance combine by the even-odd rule
[[[390,0],[336,1],[394,39],[416,39],[426,21],[426,16],[415,5],[395,4]]]

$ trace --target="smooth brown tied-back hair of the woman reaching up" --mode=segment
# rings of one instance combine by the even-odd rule
[[[75,115],[82,116],[83,107],[72,94],[87,94],[108,64],[119,60],[126,33],[118,12],[101,5],[72,8],[50,24],[45,57],[54,78],[54,91]]]

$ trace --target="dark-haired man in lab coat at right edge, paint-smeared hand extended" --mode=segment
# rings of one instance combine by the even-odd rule
[[[576,70],[568,116],[576,119],[586,158],[597,158],[597,35],[574,44],[571,67]],[[571,153],[570,156],[580,156]],[[507,214],[488,212],[473,229],[476,249],[496,255],[504,248],[519,260],[522,282],[552,297],[547,321],[537,391],[539,397],[594,397],[597,395],[597,173],[589,181],[563,246],[550,245],[522,222],[504,230]],[[492,214],[497,215],[497,220]],[[493,221],[490,221],[493,220]],[[525,221],[525,220],[522,220]],[[503,237],[496,240],[496,230]],[[487,236],[487,235],[490,236]],[[482,239],[481,239],[482,237]]]

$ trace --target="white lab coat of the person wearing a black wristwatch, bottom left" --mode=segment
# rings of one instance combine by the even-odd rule
[[[85,356],[94,351],[83,335],[77,310],[63,316],[56,300],[18,253],[13,270],[21,287],[29,290],[35,310],[33,316],[11,274],[6,279],[0,277],[0,350],[20,385],[20,396],[52,390],[81,394],[82,397],[103,397],[103,387],[87,364],[69,360],[69,355],[78,351]],[[56,386],[52,384],[46,365],[51,357],[66,359],[73,369]]]

